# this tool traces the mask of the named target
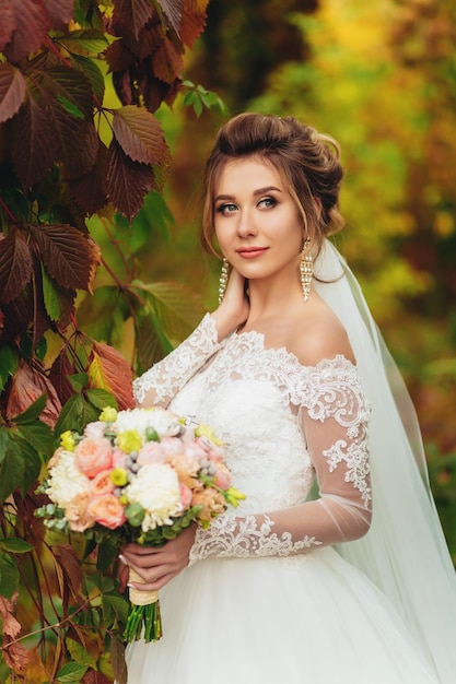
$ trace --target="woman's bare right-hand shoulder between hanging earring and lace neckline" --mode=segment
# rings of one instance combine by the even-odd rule
[[[346,329],[321,300],[303,317],[289,349],[304,366],[315,366],[323,358],[335,358],[339,354],[354,363]]]

